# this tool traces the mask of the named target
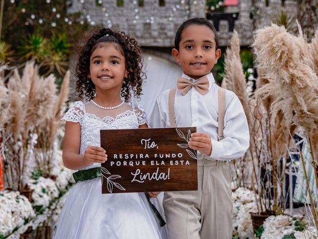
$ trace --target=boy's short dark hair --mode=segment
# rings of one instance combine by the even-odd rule
[[[219,48],[219,36],[218,36],[218,32],[215,29],[214,25],[209,20],[207,20],[205,18],[194,17],[194,18],[191,18],[191,19],[184,21],[177,29],[177,32],[175,33],[175,38],[174,38],[174,48],[175,49],[179,50],[179,43],[181,41],[182,31],[190,25],[206,25],[207,27],[209,27],[214,33],[214,39],[215,39],[215,43],[216,43],[215,50],[217,50]]]

